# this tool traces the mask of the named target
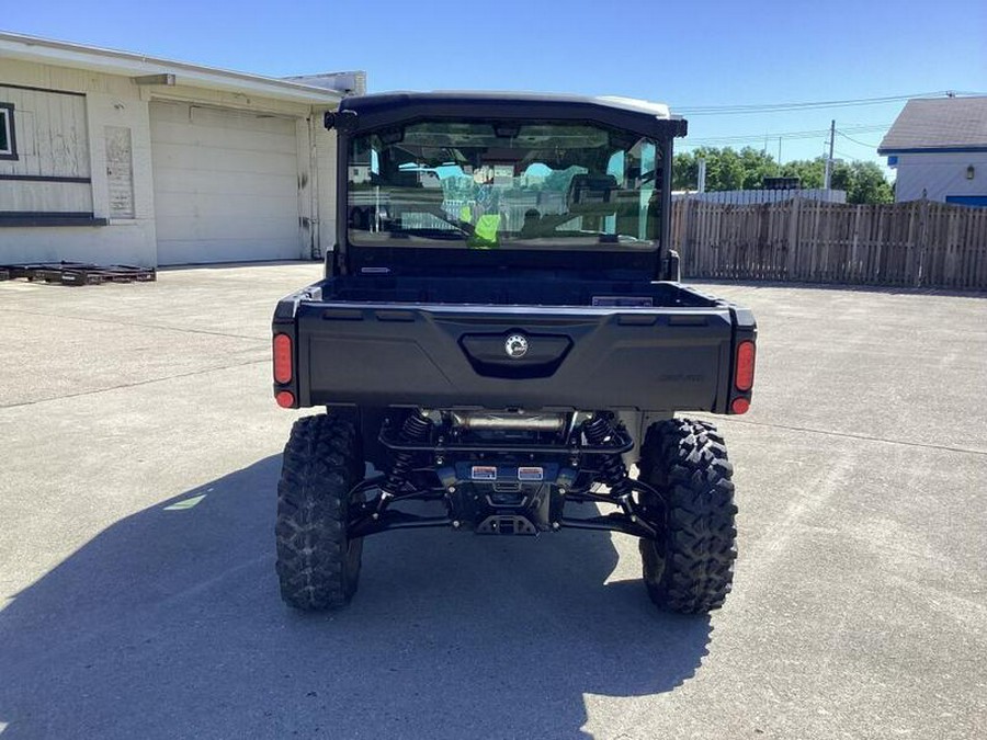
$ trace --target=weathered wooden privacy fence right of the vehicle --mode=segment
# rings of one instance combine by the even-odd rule
[[[687,277],[987,289],[987,208],[677,201]]]

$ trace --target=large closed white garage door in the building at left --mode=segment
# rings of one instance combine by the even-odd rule
[[[296,259],[295,121],[152,102],[159,264]]]

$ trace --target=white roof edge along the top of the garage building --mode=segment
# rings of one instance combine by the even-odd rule
[[[334,107],[343,98],[341,92],[274,77],[0,31],[0,58],[4,57],[124,77],[174,75],[175,84],[249,92],[276,100],[330,107]]]

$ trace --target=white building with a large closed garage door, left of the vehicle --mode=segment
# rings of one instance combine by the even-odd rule
[[[279,80],[0,33],[0,264],[324,254],[336,137],[322,113],[364,86],[363,72]]]

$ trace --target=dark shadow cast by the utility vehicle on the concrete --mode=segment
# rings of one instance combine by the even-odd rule
[[[668,692],[706,654],[707,617],[604,584],[595,533],[375,536],[349,608],[292,612],[279,469],[122,520],[0,612],[3,740],[580,737],[585,694]]]

